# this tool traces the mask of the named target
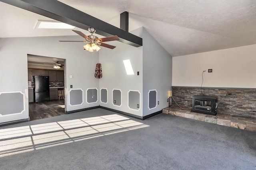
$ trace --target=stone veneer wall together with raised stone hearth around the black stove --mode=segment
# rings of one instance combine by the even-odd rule
[[[218,98],[217,115],[182,109],[173,99],[172,106],[162,109],[162,113],[256,132],[256,89],[202,88],[202,93]],[[172,87],[173,98],[182,107],[191,108],[191,96],[202,93],[201,88]]]

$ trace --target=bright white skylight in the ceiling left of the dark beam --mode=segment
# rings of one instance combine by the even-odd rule
[[[38,20],[36,28],[40,29],[74,29],[75,27],[60,21]]]

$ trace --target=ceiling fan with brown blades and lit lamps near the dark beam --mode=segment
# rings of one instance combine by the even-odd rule
[[[87,50],[87,51],[90,51],[90,52],[93,52],[94,50],[99,51],[100,47],[98,47],[98,45],[102,46],[102,47],[109,48],[109,49],[114,49],[114,48],[116,48],[115,46],[105,44],[105,43],[102,43],[102,42],[119,40],[118,36],[116,36],[116,35],[111,36],[111,37],[98,38],[95,35],[93,35],[93,33],[96,32],[96,29],[94,29],[92,27],[88,28],[88,31],[91,33],[91,35],[88,35],[88,36],[85,35],[84,33],[82,33],[81,31],[76,31],[76,30],[72,30],[72,31],[74,31],[78,35],[84,37],[86,39],[86,41],[61,41],[61,42],[88,43],[88,44],[84,45],[84,49]]]

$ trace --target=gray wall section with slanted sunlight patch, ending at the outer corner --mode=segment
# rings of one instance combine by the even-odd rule
[[[129,109],[128,107],[128,91],[138,90],[141,93],[142,106],[142,47],[133,47],[121,43],[119,41],[107,42],[116,46],[115,49],[100,49],[100,63],[102,64],[102,78],[100,78],[100,88],[107,88],[108,103],[100,102],[100,106],[124,111],[134,115],[142,116],[143,109],[138,111]],[[134,75],[127,75],[124,68],[123,60],[130,59]],[[140,75],[137,76],[137,71]],[[112,104],[112,90],[120,89],[122,91],[122,106],[114,106]]]

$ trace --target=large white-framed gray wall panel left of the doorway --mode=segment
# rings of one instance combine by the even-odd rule
[[[22,114],[25,110],[23,92],[0,92],[0,117]]]

